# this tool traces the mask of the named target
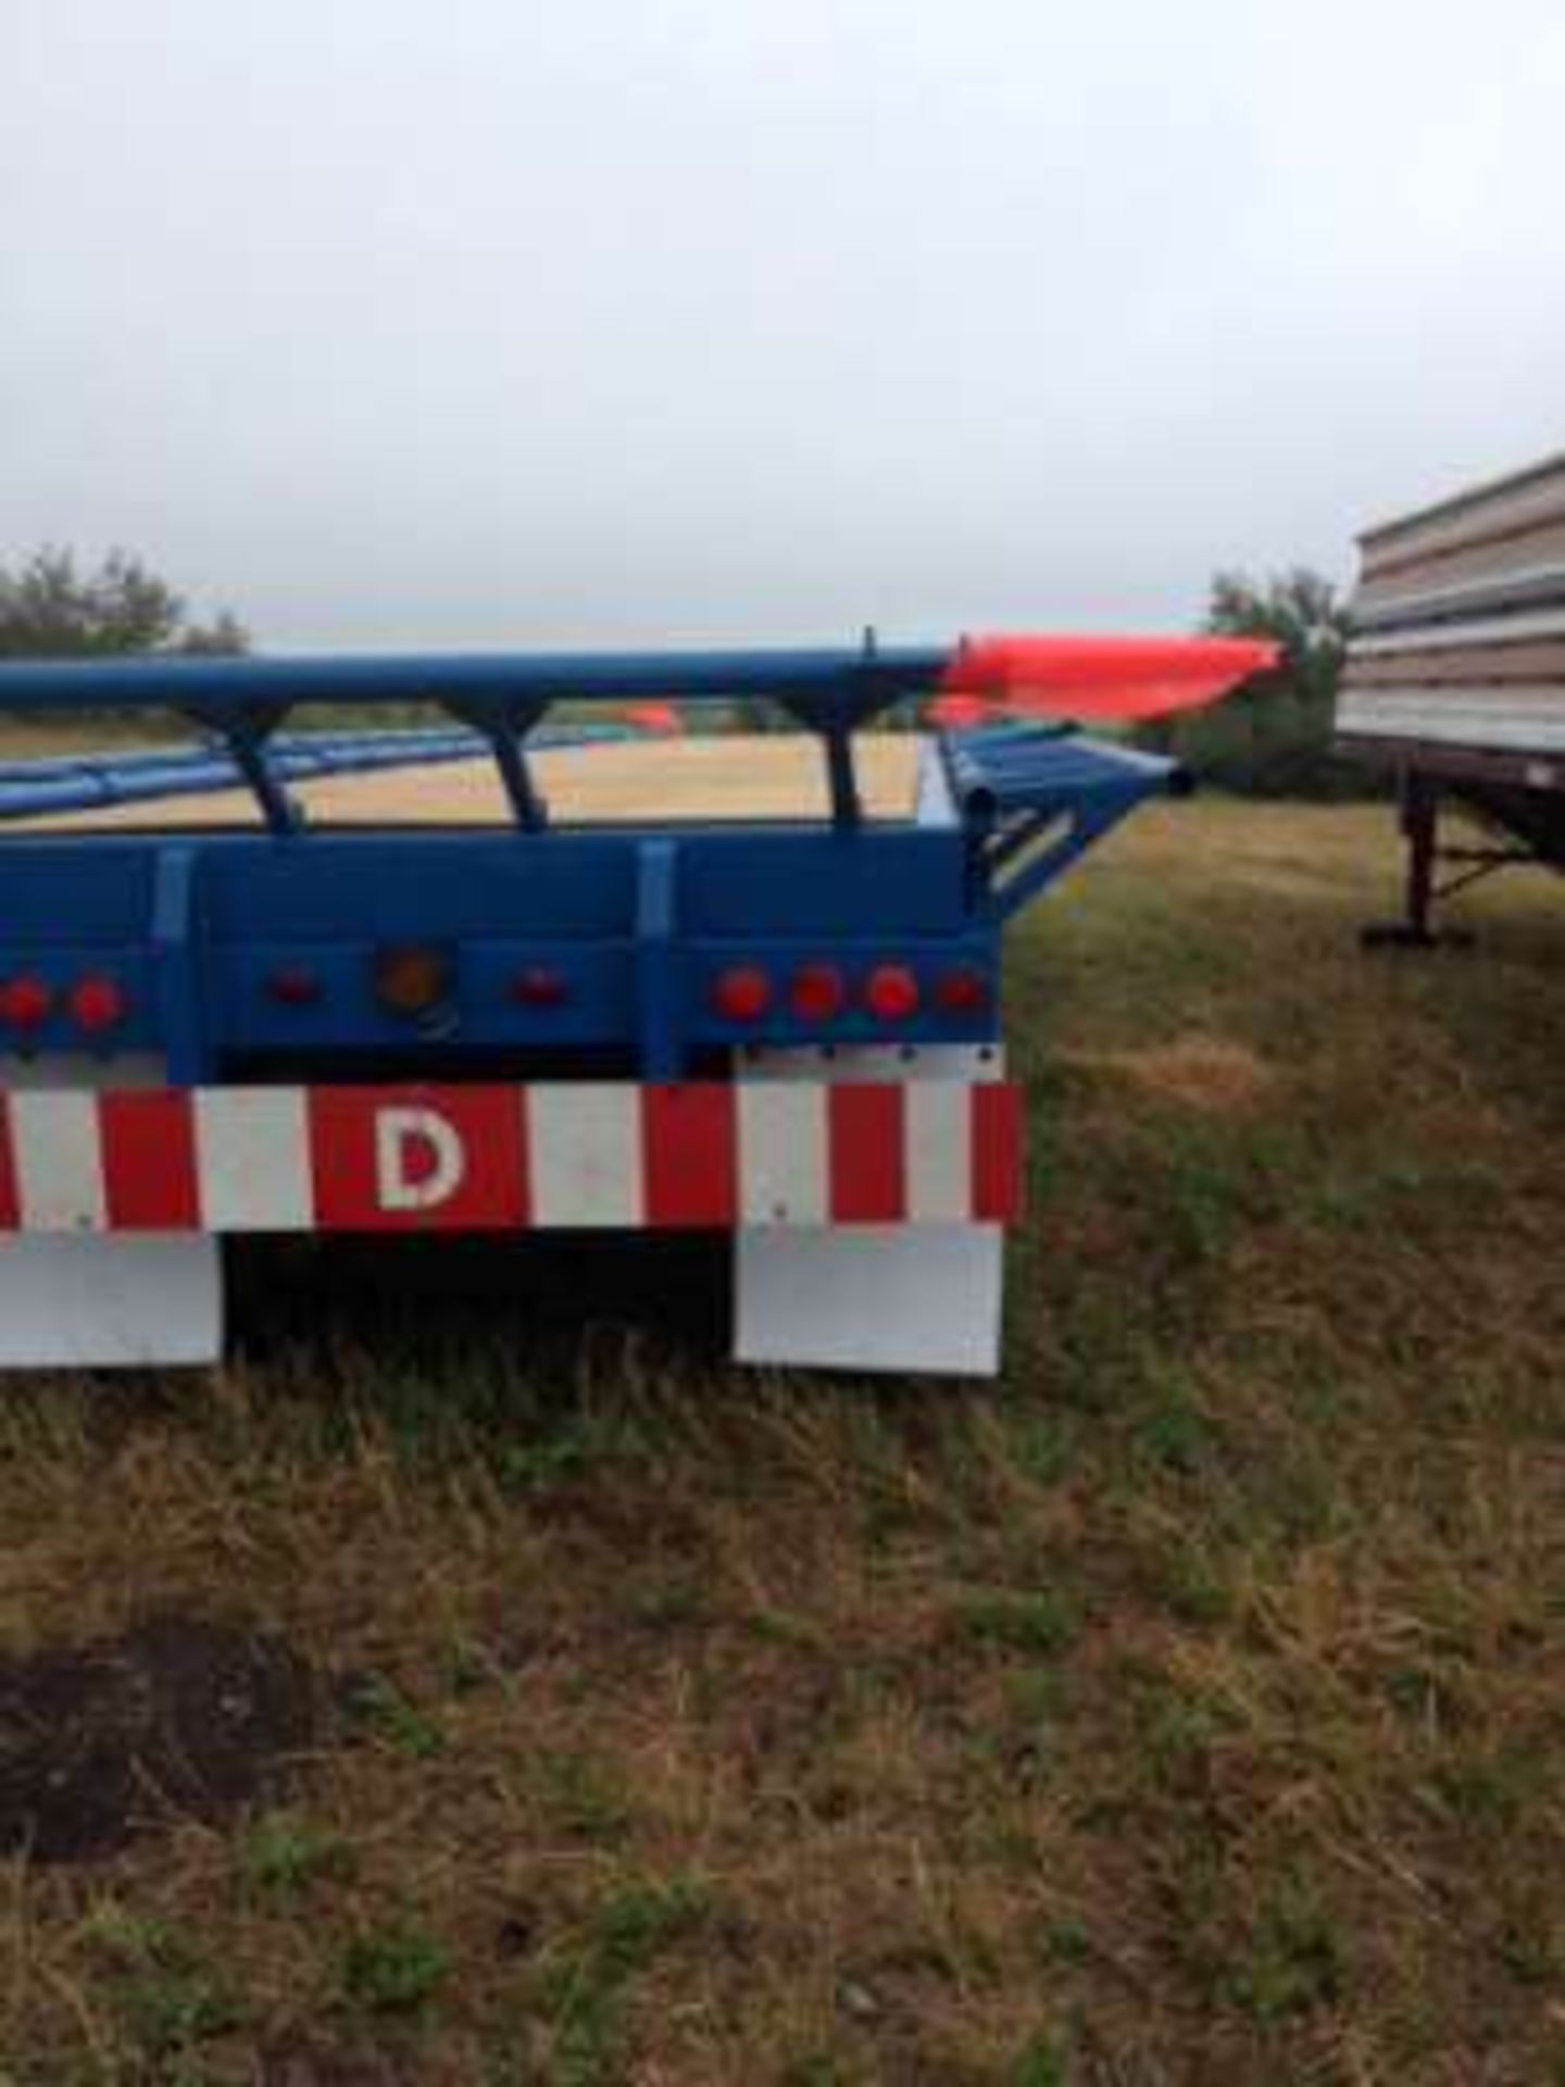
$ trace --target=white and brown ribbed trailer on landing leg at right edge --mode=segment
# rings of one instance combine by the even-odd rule
[[[1425,945],[1436,904],[1475,879],[1565,868],[1565,457],[1358,547],[1338,745],[1394,772],[1408,849],[1404,918],[1367,939]],[[1442,806],[1504,839],[1442,845]]]

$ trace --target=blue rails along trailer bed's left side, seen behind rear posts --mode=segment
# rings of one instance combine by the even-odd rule
[[[532,747],[599,745],[632,739],[622,724],[561,724],[532,735]],[[282,783],[311,776],[413,768],[482,758],[486,741],[467,726],[382,733],[280,733],[267,764]],[[221,743],[198,747],[115,749],[0,762],[0,822],[88,812],[96,806],[152,803],[242,787],[244,776]]]

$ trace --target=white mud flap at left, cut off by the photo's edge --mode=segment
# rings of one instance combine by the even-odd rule
[[[0,1085],[146,1087],[154,1058],[10,1060]],[[207,1233],[31,1233],[0,1244],[0,1369],[131,1369],[215,1363],[223,1269]]]

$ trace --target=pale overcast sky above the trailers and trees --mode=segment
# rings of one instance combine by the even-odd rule
[[[0,557],[1179,628],[1565,447],[1563,92],[1561,0],[0,0]]]

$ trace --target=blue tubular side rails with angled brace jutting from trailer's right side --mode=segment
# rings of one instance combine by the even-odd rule
[[[1179,762],[1068,726],[995,724],[943,743],[968,831],[974,902],[1008,920],[1137,803],[1185,795]]]

